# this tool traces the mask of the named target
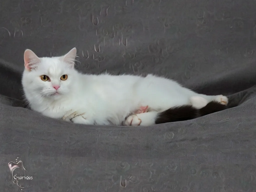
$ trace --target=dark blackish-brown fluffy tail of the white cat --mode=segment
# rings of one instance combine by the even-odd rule
[[[196,109],[191,105],[177,106],[159,113],[155,120],[155,124],[186,121],[208,115],[210,113],[222,111],[227,108],[228,107],[226,105],[222,105],[215,101],[209,102],[201,109]]]

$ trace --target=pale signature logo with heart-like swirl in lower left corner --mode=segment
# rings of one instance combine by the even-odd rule
[[[18,185],[19,180],[29,180],[29,179],[33,179],[33,177],[30,176],[26,176],[26,169],[23,166],[23,162],[21,160],[19,160],[19,157],[17,157],[17,159],[15,159],[15,162],[11,161],[8,163],[8,167],[10,169],[11,175],[12,175],[12,182],[14,184],[17,184],[17,186],[19,186],[20,188],[29,188],[32,187],[32,185],[30,186],[26,186],[26,187],[22,187],[21,185]],[[17,176],[17,174],[13,174],[15,169],[23,169],[24,170],[24,175],[23,176]]]

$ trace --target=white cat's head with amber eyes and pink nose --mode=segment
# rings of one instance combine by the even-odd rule
[[[59,99],[69,94],[77,75],[74,69],[76,52],[73,48],[61,57],[39,58],[33,51],[25,50],[22,77],[25,95]]]

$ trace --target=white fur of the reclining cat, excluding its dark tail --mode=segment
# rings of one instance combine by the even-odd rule
[[[29,49],[24,52],[22,85],[32,110],[57,119],[75,114],[72,122],[81,124],[152,125],[159,111],[173,106],[192,104],[199,109],[210,101],[228,102],[223,95],[198,94],[152,74],[82,74],[74,69],[75,57],[76,48],[51,58],[39,58]],[[64,74],[65,81],[60,79]],[[50,81],[42,81],[42,75]],[[60,86],[57,93],[54,85]],[[130,115],[147,105],[153,111]]]

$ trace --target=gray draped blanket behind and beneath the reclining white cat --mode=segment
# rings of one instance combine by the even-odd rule
[[[255,191],[255,7],[253,0],[1,1],[0,191]],[[83,72],[155,73],[228,95],[230,108],[149,127],[78,125],[26,108],[24,50],[42,57],[73,47]]]

